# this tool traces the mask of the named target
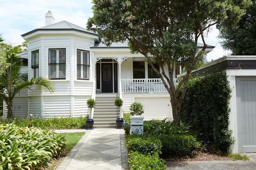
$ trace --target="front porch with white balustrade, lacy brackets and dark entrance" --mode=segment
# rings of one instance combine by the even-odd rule
[[[157,65],[156,68],[162,71]],[[164,71],[168,72],[167,67]],[[95,73],[96,93],[119,93],[122,97],[121,93],[167,92],[163,81],[144,57],[97,57]],[[176,83],[177,78],[173,81]]]

